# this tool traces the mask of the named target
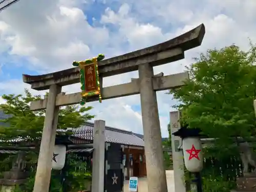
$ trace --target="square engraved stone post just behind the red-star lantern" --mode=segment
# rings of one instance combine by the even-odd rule
[[[183,152],[179,150],[182,141],[180,137],[173,135],[180,129],[180,113],[178,111],[170,112],[170,133],[172,133],[172,154],[174,168],[175,191],[186,192],[184,180],[184,160]]]

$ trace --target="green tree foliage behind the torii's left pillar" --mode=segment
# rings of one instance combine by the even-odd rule
[[[41,96],[33,96],[28,90],[25,95],[3,95],[5,104],[0,105],[0,110],[10,115],[9,118],[0,120],[5,122],[5,126],[0,126],[0,136],[2,140],[22,139],[34,141],[41,137],[44,126],[45,110],[31,111],[29,104],[32,101],[40,100]],[[92,107],[79,107],[69,105],[59,110],[58,130],[67,130],[67,128],[77,128],[84,122],[94,118],[94,115],[88,113]],[[63,134],[63,132],[58,132]]]

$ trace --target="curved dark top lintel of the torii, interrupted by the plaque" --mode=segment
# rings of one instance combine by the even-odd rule
[[[178,37],[161,44],[140,49],[124,55],[98,62],[101,77],[138,70],[138,66],[147,62],[153,67],[184,58],[184,51],[201,45],[205,34],[203,24]],[[136,61],[136,62],[134,62]],[[31,84],[34,90],[48,90],[51,84],[67,86],[79,82],[79,68],[66,69],[44,75],[23,75],[23,81]]]

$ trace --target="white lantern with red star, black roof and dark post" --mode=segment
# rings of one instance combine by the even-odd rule
[[[182,139],[184,164],[186,169],[195,176],[195,179],[192,181],[197,186],[197,192],[203,192],[202,179],[200,175],[200,172],[203,169],[203,153],[200,132],[200,129],[187,129],[187,127],[181,127],[180,130],[173,133],[174,136],[181,137]]]

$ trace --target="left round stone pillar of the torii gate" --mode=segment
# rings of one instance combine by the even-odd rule
[[[33,192],[48,192],[50,186],[53,148],[55,143],[56,129],[58,123],[59,107],[55,106],[57,95],[61,92],[61,87],[52,84],[46,106],[46,117],[40,152],[38,157],[34,190]]]

